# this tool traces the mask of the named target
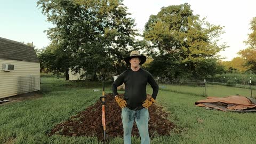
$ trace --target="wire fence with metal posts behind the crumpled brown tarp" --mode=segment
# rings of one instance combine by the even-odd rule
[[[156,78],[159,89],[192,95],[224,97],[243,95],[256,98],[256,81],[252,79],[172,79]]]

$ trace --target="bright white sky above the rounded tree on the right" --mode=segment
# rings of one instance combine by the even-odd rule
[[[135,18],[137,28],[142,31],[151,14],[157,14],[161,7],[188,3],[194,14],[200,18],[206,17],[213,25],[225,26],[226,33],[221,36],[221,42],[230,46],[220,52],[222,58],[231,60],[237,57],[239,50],[245,49],[247,34],[251,33],[250,21],[256,17],[256,1],[254,0],[124,0],[124,4]]]

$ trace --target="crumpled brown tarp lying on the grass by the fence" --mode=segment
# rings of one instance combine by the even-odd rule
[[[207,97],[206,100],[199,100],[198,107],[219,109],[222,111],[256,111],[256,100],[241,95],[230,95],[228,97]]]

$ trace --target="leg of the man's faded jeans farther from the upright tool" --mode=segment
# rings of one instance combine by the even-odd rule
[[[150,138],[148,133],[149,113],[148,109],[143,108],[136,111],[135,122],[140,132],[141,144],[149,144]]]

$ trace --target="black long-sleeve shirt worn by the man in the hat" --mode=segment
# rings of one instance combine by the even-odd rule
[[[117,87],[123,83],[125,84],[124,100],[126,100],[129,109],[139,110],[143,108],[142,103],[147,98],[147,83],[151,85],[153,89],[152,97],[156,99],[158,85],[147,70],[141,68],[138,71],[133,71],[132,69],[125,70],[112,84],[114,96],[118,94]]]

